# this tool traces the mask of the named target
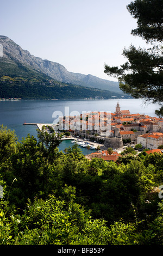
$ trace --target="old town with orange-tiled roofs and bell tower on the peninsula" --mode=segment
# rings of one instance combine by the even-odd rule
[[[91,160],[94,157],[105,161],[116,161],[126,147],[134,148],[139,144],[139,150],[150,153],[161,153],[158,147],[163,144],[163,118],[149,117],[146,114],[131,114],[130,111],[121,110],[117,102],[115,112],[90,112],[78,116],[64,116],[54,124],[36,124],[41,130],[42,126],[54,130],[64,130],[68,136],[62,139],[73,139],[80,147],[98,149],[86,155]],[[58,127],[56,129],[56,127]],[[87,142],[89,141],[89,142]],[[108,148],[112,149],[108,153]]]

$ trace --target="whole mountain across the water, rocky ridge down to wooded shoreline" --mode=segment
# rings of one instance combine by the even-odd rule
[[[43,60],[0,35],[0,97],[22,99],[84,99],[126,96],[118,82],[68,72],[59,63]]]

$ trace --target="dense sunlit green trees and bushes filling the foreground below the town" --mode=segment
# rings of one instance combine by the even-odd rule
[[[60,139],[1,126],[1,245],[162,245],[163,155],[89,161]]]

